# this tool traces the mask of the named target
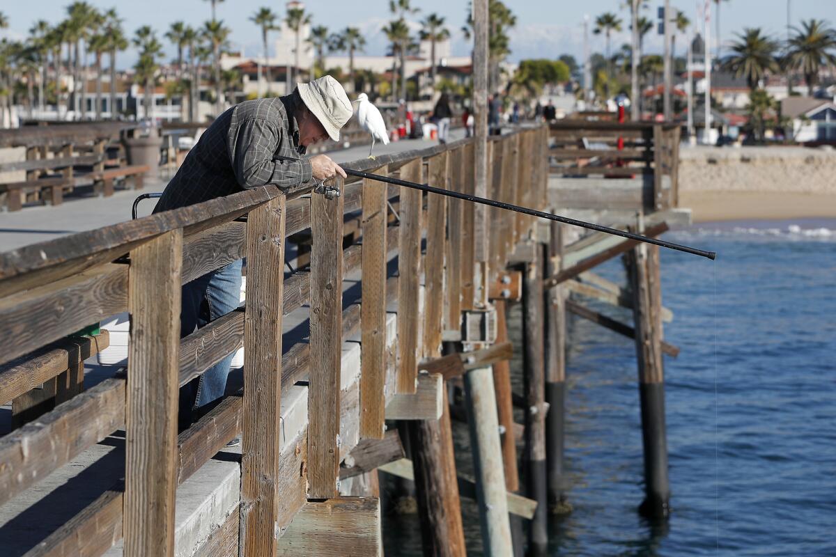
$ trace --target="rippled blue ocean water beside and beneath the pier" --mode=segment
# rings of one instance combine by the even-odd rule
[[[670,519],[636,512],[635,345],[570,316],[573,512],[551,519],[550,554],[836,555],[836,221],[707,224],[665,239],[719,254],[661,254],[663,303],[675,314],[665,339],[681,348],[665,357]],[[599,271],[624,276],[620,261]],[[517,347],[518,320],[515,308]],[[459,467],[471,468],[466,428],[454,433]],[[481,554],[475,505],[462,511],[468,554]],[[421,554],[415,515],[386,519],[385,549]]]

